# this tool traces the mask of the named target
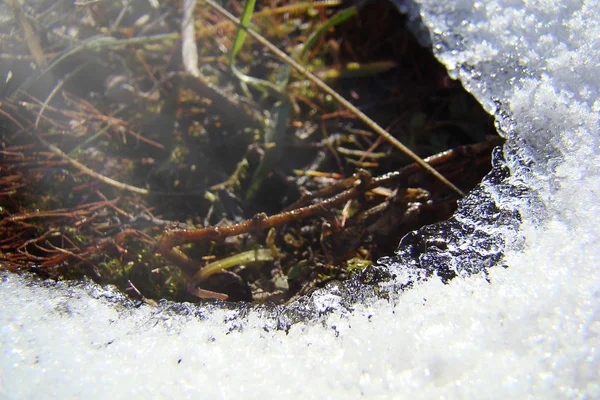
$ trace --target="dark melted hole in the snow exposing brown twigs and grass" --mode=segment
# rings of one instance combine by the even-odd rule
[[[15,53],[33,54],[0,67],[2,268],[85,275],[141,299],[196,301],[210,290],[289,303],[325,285],[351,291],[386,281],[399,263],[451,279],[474,272],[465,254],[472,265],[498,262],[501,244],[482,230],[473,228],[471,253],[453,241],[470,229],[459,214],[410,233],[399,255],[383,260],[389,271],[373,266],[408,232],[450,218],[458,196],[251,39],[235,62],[261,83],[241,84],[223,53],[235,26],[214,10],[194,12],[198,80],[181,72],[177,37],[164,36],[181,29],[173,4],[106,2],[65,22],[67,3],[24,10],[48,30],[30,43],[9,37]],[[332,4],[258,7],[256,29],[293,54],[344,12]],[[25,28],[14,20],[1,29]],[[297,58],[420,156],[433,155],[461,190],[490,170],[502,142],[492,117],[391,3],[356,9]],[[497,164],[490,179],[502,179]],[[482,193],[461,213],[492,207]],[[225,237],[235,224],[239,234]],[[203,241],[181,233],[207,226],[197,233]],[[157,245],[165,232],[178,233]]]

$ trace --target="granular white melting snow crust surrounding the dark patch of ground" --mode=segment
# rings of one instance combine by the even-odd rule
[[[600,8],[421,3],[506,163],[405,239],[392,280],[372,273],[379,297],[332,285],[290,309],[151,308],[4,276],[0,397],[599,398]]]

